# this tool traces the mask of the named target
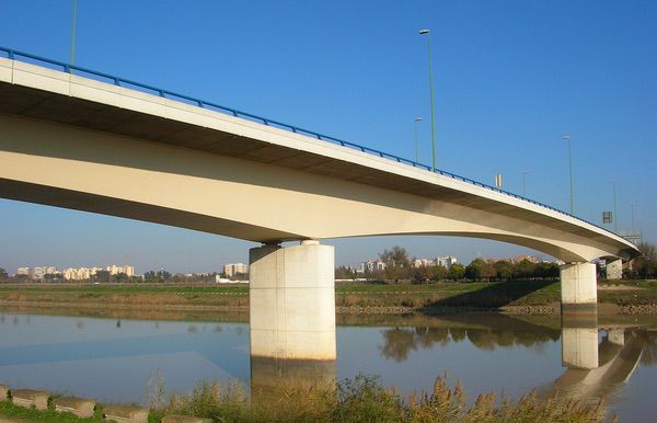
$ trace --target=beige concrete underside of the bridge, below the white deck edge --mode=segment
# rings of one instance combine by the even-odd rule
[[[0,196],[258,242],[373,235],[487,238],[565,262],[623,254],[604,237],[332,176],[0,115]],[[597,238],[600,238],[598,241]]]

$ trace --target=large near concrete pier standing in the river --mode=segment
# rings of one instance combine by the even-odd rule
[[[314,240],[250,250],[252,357],[336,358],[334,256]]]

